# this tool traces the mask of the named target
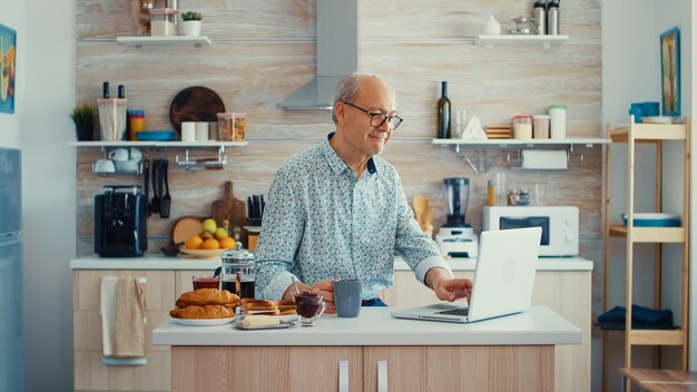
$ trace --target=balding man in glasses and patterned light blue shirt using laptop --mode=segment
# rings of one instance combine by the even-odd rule
[[[444,301],[469,300],[472,283],[453,278],[435,243],[421,229],[400,177],[377,155],[402,118],[382,79],[352,74],[336,86],[336,130],[292,157],[274,178],[256,251],[256,293],[289,300],[300,290],[321,294],[334,311],[333,282],[363,281],[364,306],[384,306],[395,251],[416,278]]]

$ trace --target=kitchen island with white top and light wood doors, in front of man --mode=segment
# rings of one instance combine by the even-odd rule
[[[393,318],[364,307],[313,327],[242,331],[165,321],[173,391],[553,391],[554,346],[580,329],[543,306],[471,324]]]

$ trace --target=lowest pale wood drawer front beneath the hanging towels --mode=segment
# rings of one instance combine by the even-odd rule
[[[76,391],[171,391],[171,354],[149,351],[147,365],[107,366],[101,364],[101,351],[76,350]]]

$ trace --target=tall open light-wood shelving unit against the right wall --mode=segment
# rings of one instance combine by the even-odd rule
[[[610,278],[610,263],[612,262],[610,255],[610,242],[611,238],[624,237],[627,246],[626,255],[626,320],[625,323],[625,367],[632,367],[631,353],[632,347],[636,345],[652,345],[656,346],[654,363],[655,366],[660,366],[659,353],[660,346],[673,345],[680,346],[680,369],[687,370],[688,364],[688,298],[689,298],[689,183],[690,183],[690,125],[689,119],[685,120],[685,124],[635,124],[634,116],[630,117],[629,126],[620,129],[608,129],[608,136],[611,139],[611,144],[606,147],[606,223],[605,223],[605,310],[608,311],[609,292],[611,285]],[[677,140],[683,144],[683,216],[680,227],[636,227],[634,226],[635,219],[635,197],[638,193],[635,189],[635,178],[637,173],[635,170],[635,163],[637,158],[640,158],[636,154],[636,147],[638,144],[651,144],[656,148],[656,161],[655,161],[655,200],[654,208],[656,213],[662,212],[662,161],[664,161],[664,141]],[[621,223],[611,223],[612,216],[619,216],[617,213],[610,210],[610,154],[612,144],[626,144],[627,145],[627,225]],[[636,330],[632,329],[631,321],[631,305],[634,298],[632,286],[632,273],[635,270],[635,244],[652,243],[656,244],[654,251],[654,308],[661,308],[661,265],[662,259],[662,244],[680,244],[681,246],[681,287],[680,287],[680,307],[681,315],[680,322],[677,325],[677,330]],[[677,282],[676,282],[677,284]],[[607,332],[603,333],[603,339],[607,337]],[[602,345],[602,356],[608,357],[607,342]],[[607,379],[605,374],[607,370],[603,366],[603,382]]]

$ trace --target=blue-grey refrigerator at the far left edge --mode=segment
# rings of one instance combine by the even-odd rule
[[[23,391],[21,153],[0,148],[0,392]]]

